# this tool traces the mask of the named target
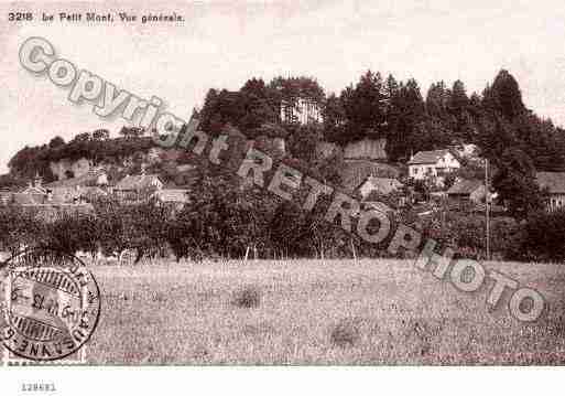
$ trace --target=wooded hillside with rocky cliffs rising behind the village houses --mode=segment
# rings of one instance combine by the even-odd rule
[[[305,116],[306,110],[316,119]],[[452,87],[441,81],[425,98],[416,81],[383,78],[371,71],[339,95],[326,95],[314,77],[276,77],[268,84],[251,78],[237,92],[210,89],[193,117],[213,136],[233,126],[265,151],[298,161],[302,169],[322,172],[337,184],[351,182],[344,161],[405,163],[415,152],[461,142],[477,145],[482,158],[507,173],[517,170],[517,159],[522,174],[565,169],[564,130],[525,106],[508,71],[481,95],[467,95],[461,81]],[[144,167],[182,184],[178,167],[191,163],[194,158],[186,152],[160,151],[140,128],[124,127],[117,138],[99,129],[68,142],[54,137],[21,149],[9,162],[10,174],[0,176],[0,189],[25,184],[36,174],[45,182],[73,178],[91,167],[102,167],[115,178]]]

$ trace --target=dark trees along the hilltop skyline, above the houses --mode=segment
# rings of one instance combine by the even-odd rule
[[[322,124],[281,122],[281,106],[293,106],[298,98],[320,106]],[[535,172],[565,169],[563,129],[526,108],[519,84],[508,71],[500,71],[481,94],[468,95],[461,81],[452,86],[437,82],[425,98],[415,79],[399,82],[393,75],[384,78],[371,71],[339,95],[326,94],[314,77],[276,77],[269,83],[251,78],[237,92],[209,89],[193,117],[211,135],[229,125],[249,139],[283,138],[289,157],[324,170],[333,180],[343,159],[332,158],[335,165],[316,159],[314,148],[322,140],[344,146],[363,138],[385,138],[391,162],[405,162],[421,150],[476,143],[490,160],[492,186],[501,203],[518,218],[543,204]],[[104,129],[79,133],[69,142],[55,137],[47,145],[20,150],[9,162],[10,174],[0,178],[0,186],[25,184],[36,173],[53,180],[50,161],[87,158],[95,163],[119,163],[153,146],[146,131],[133,127],[122,128],[116,139]],[[155,171],[167,180],[178,179],[171,168],[162,164]]]

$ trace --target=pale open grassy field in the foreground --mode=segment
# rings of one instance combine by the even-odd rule
[[[102,296],[94,364],[564,364],[565,267],[490,263],[546,298],[508,309],[411,261],[91,267]]]

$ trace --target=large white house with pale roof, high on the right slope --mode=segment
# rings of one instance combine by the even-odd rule
[[[410,178],[414,180],[432,178],[438,186],[444,184],[446,174],[461,167],[450,150],[419,151],[412,156],[408,165]]]

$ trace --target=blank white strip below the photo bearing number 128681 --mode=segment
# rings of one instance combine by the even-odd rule
[[[544,367],[17,367],[2,395],[546,395],[564,368]],[[24,393],[24,383],[55,393]]]

